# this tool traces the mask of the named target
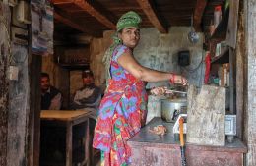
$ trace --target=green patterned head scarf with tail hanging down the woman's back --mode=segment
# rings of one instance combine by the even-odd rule
[[[140,23],[142,22],[141,17],[133,11],[127,12],[121,16],[121,18],[118,20],[116,24],[117,32],[114,33],[112,36],[113,38],[113,44],[106,50],[104,57],[103,57],[103,63],[105,64],[105,71],[106,71],[106,84],[108,84],[108,80],[111,78],[110,76],[110,62],[112,58],[112,54],[114,49],[122,44],[122,41],[118,38],[118,32],[123,28],[139,28]]]

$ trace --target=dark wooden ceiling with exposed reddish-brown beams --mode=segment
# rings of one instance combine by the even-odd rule
[[[224,0],[52,0],[54,31],[101,37],[104,30],[115,29],[118,18],[133,10],[142,17],[142,28],[157,28],[167,33],[172,26],[190,26],[207,31],[214,7]]]

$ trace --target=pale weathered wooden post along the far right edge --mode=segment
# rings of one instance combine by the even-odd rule
[[[256,165],[256,3],[244,1],[247,96],[245,97],[245,141],[248,146],[245,165]]]

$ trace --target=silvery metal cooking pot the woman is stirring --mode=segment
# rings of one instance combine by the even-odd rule
[[[186,113],[187,99],[163,99],[161,100],[161,118],[166,122],[175,122],[180,113]]]

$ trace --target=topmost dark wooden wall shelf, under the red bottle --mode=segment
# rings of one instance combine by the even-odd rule
[[[229,8],[224,13],[224,18],[218,25],[218,27],[215,29],[214,33],[210,37],[211,40],[225,40],[226,37],[226,31],[227,31],[227,25],[228,25],[228,18],[229,18]]]

